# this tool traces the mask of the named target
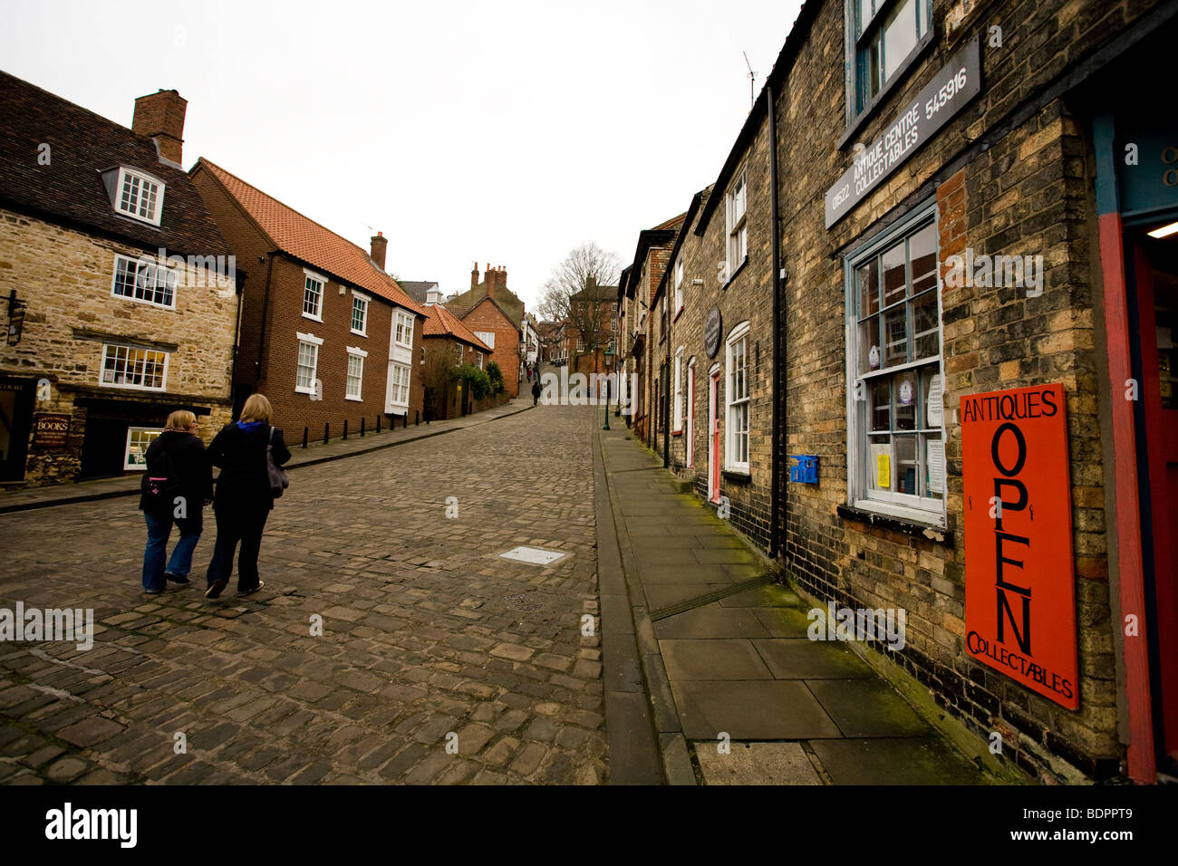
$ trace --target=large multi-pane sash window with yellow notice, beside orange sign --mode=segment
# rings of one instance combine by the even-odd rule
[[[944,525],[935,205],[847,259],[851,502]]]

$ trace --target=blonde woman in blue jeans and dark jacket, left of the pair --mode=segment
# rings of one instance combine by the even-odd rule
[[[164,431],[147,445],[139,508],[147,521],[143,581],[148,595],[159,595],[167,581],[188,583],[192,551],[204,530],[203,510],[213,497],[212,465],[196,432],[197,416],[178,410],[167,416]],[[167,560],[173,522],[180,537]]]

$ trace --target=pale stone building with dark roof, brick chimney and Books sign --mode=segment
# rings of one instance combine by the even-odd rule
[[[230,419],[238,290],[185,106],[140,97],[127,130],[0,73],[0,482],[141,471],[171,411]]]

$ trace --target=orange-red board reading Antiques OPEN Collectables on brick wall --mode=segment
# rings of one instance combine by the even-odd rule
[[[961,397],[961,462],[966,648],[1077,709],[1064,386]]]

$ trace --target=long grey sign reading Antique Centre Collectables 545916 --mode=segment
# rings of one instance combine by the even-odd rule
[[[980,92],[981,48],[975,37],[945,64],[879,138],[855,154],[854,165],[826,191],[826,227],[842,219]]]

